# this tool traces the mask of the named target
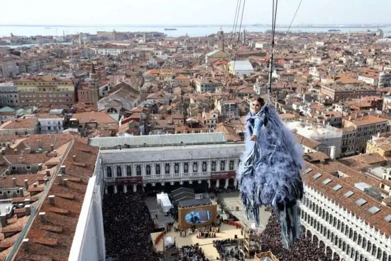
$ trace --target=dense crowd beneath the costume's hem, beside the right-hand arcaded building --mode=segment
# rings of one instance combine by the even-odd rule
[[[273,212],[272,212],[273,213]],[[283,261],[332,261],[331,254],[325,254],[325,249],[317,247],[317,242],[311,242],[311,238],[305,238],[304,234],[299,240],[286,249],[281,243],[281,227],[277,216],[273,213],[261,234],[262,251],[271,251],[279,260]],[[336,255],[334,260],[338,260]]]

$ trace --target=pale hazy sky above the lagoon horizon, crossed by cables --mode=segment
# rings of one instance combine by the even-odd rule
[[[279,0],[277,23],[290,23],[300,0]],[[243,2],[243,0],[242,0]],[[232,24],[236,0],[1,1],[0,24]],[[270,23],[272,0],[246,0],[243,24]],[[303,0],[297,23],[391,23],[391,0]]]

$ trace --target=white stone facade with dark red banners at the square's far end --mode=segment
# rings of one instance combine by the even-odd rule
[[[101,150],[100,157],[106,190],[112,186],[114,193],[118,183],[130,183],[123,186],[124,192],[137,191],[141,184],[186,181],[226,188],[237,186],[235,175],[243,149],[242,143],[149,147]]]

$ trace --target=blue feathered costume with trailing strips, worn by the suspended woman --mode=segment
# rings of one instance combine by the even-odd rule
[[[251,141],[252,135],[257,136]],[[252,214],[259,225],[259,208],[274,208],[281,223],[285,247],[300,237],[298,199],[303,198],[300,171],[304,168],[303,148],[269,104],[257,113],[249,112],[245,151],[237,179],[247,218]]]

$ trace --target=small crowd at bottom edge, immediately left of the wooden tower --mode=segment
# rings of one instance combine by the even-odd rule
[[[213,240],[221,261],[244,261],[237,239]]]

